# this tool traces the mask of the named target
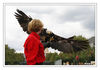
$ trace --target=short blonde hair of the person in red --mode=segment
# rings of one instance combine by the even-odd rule
[[[39,19],[33,19],[28,24],[28,31],[31,32],[38,32],[43,28],[43,23]]]

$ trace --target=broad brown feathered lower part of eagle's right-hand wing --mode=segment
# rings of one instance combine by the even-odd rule
[[[78,52],[78,51],[89,48],[89,43],[88,41],[60,40],[60,41],[51,43],[51,47],[53,49],[57,49],[64,53],[72,53],[72,52]]]

